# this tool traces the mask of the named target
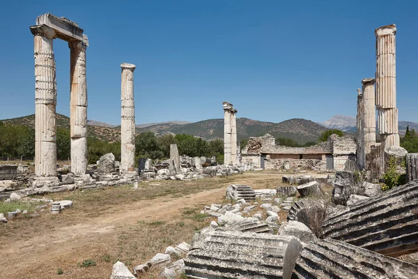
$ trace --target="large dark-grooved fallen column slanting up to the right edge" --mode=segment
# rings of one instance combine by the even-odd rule
[[[418,181],[330,215],[325,237],[397,257],[418,251]]]

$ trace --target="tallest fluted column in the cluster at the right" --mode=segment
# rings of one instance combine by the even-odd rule
[[[396,109],[396,26],[379,27],[376,34],[376,107],[382,147],[399,146]]]

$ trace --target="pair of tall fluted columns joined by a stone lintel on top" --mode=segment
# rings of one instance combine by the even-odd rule
[[[58,182],[56,177],[56,68],[53,42],[60,38],[70,47],[71,171],[85,174],[87,168],[88,38],[77,23],[49,13],[31,26],[35,43],[35,173]],[[45,181],[46,182],[46,181]]]

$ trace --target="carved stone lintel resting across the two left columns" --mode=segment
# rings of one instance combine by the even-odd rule
[[[36,18],[36,24],[45,24],[48,27],[51,27],[56,31],[56,36],[61,40],[84,40],[84,30],[81,29],[77,23],[72,22],[64,17],[60,18],[50,13],[45,13]]]

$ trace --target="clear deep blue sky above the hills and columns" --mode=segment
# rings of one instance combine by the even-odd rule
[[[33,114],[36,17],[88,35],[88,119],[121,121],[122,62],[134,63],[137,123],[355,116],[376,71],[374,29],[396,24],[399,119],[418,122],[418,1],[3,1],[0,119]],[[70,50],[54,40],[57,112],[69,115]]]

